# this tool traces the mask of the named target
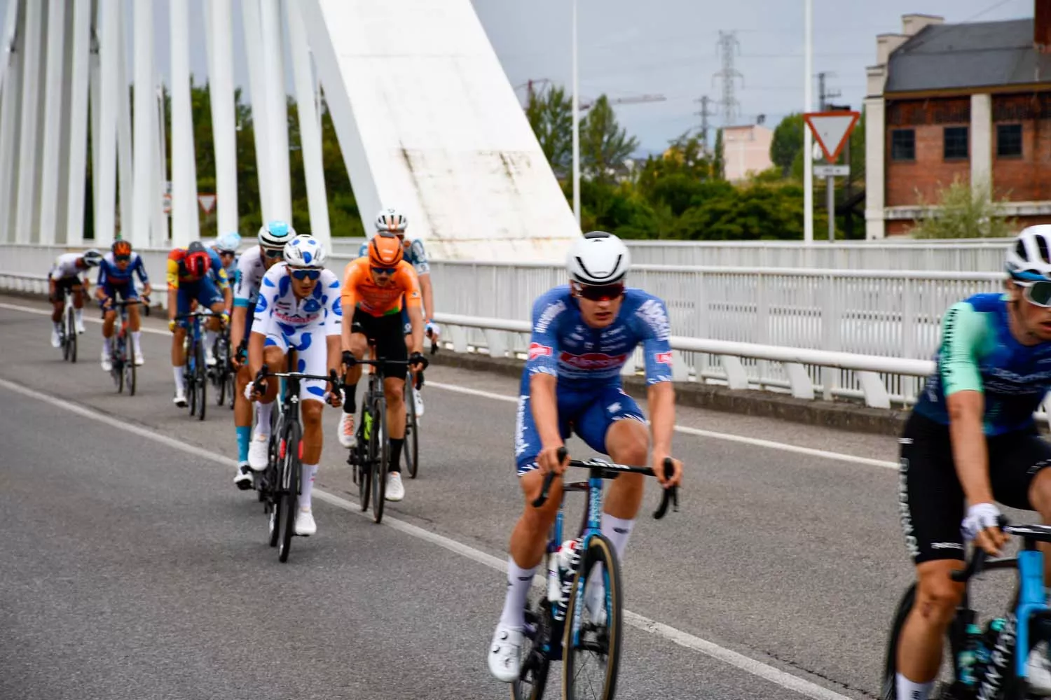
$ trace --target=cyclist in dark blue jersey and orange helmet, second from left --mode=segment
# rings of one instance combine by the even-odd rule
[[[139,275],[139,281],[143,284],[142,294],[149,296],[149,277],[146,276],[146,267],[142,263],[142,256],[131,250],[131,243],[127,240],[115,240],[108,253],[99,264],[99,281],[95,295],[99,299],[99,305],[105,315],[102,322],[102,368],[106,372],[112,369],[109,360],[110,342],[114,337],[114,323],[117,320],[117,310],[112,307],[112,302],[120,297],[123,301],[135,301],[139,299],[139,292],[135,289],[132,275]],[[131,328],[131,347],[135,352],[135,363],[143,364],[145,358],[142,355],[141,337],[142,331],[139,317],[139,305],[133,304],[128,309],[128,327]]]

